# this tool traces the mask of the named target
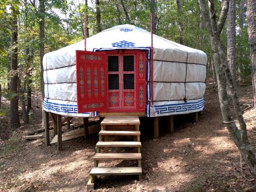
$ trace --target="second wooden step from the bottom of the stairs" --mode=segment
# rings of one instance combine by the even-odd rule
[[[140,153],[119,153],[119,154],[100,154],[97,153],[93,157],[94,160],[139,160]]]

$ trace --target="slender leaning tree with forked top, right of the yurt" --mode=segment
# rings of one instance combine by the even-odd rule
[[[214,52],[214,66],[217,72],[218,90],[219,90],[219,101],[223,121],[230,133],[231,138],[235,142],[238,150],[241,153],[246,165],[249,167],[250,172],[253,177],[256,178],[256,153],[248,140],[246,124],[243,118],[242,110],[239,106],[239,101],[237,97],[237,90],[233,86],[233,78],[230,74],[230,70],[227,64],[227,57],[224,51],[223,44],[220,39],[220,33],[223,28],[223,23],[226,20],[228,2],[229,0],[222,2],[222,11],[219,16],[219,21],[217,23],[217,13],[214,8],[213,1],[209,0],[209,14],[206,11],[205,0],[198,0],[201,14],[205,20],[205,26],[210,35],[210,42],[212,49],[216,50]],[[220,62],[216,62],[219,60]],[[230,95],[233,100],[233,106],[235,109],[236,118],[240,126],[240,130],[236,126],[233,116],[231,114],[228,97],[227,97],[227,85],[230,90]]]

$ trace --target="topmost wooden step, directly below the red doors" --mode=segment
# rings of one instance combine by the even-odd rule
[[[101,125],[140,125],[138,116],[106,116]]]

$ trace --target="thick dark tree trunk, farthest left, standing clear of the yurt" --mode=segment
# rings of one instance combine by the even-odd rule
[[[17,24],[17,9],[18,5],[15,5],[15,1],[11,1],[11,71],[12,76],[10,78],[10,91],[17,94],[10,101],[11,109],[11,127],[17,129],[20,126],[19,108],[18,108],[18,92],[17,92],[17,69],[18,69],[18,47],[15,46],[18,43],[18,24]],[[13,48],[14,47],[14,48]]]

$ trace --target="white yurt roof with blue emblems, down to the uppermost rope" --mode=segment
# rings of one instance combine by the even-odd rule
[[[115,49],[149,49],[151,34],[144,29],[133,25],[119,25],[101,31],[87,38],[86,50],[115,50]],[[153,36],[154,60],[189,62],[206,64],[207,57],[203,51],[192,49],[169,41],[157,35]],[[74,65],[75,50],[84,50],[84,40],[63,47],[57,51],[45,54],[47,68]],[[44,68],[46,68],[44,62]]]

